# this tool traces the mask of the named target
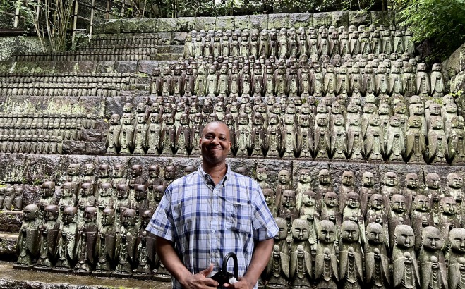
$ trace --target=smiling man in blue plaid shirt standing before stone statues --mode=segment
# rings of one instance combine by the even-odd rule
[[[256,288],[277,225],[258,183],[226,164],[231,149],[227,125],[208,123],[200,147],[202,165],[167,187],[147,230],[157,235],[157,254],[173,276],[173,288]],[[242,277],[218,284],[207,276],[221,269],[229,252],[236,253]],[[228,265],[231,272],[232,262]]]

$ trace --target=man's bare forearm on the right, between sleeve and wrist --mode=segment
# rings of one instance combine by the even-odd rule
[[[255,250],[253,250],[252,260],[248,266],[246,275],[243,278],[246,278],[250,288],[253,288],[255,283],[257,283],[260,274],[267,266],[268,261],[270,260],[271,252],[273,250],[274,239],[268,239],[264,241],[257,242],[255,245]]]

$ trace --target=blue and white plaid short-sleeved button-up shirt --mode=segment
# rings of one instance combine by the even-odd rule
[[[250,264],[254,241],[278,233],[258,183],[229,166],[216,186],[202,166],[171,183],[147,230],[176,242],[183,264],[194,274],[213,263],[212,276],[221,269],[226,254],[236,253],[239,277]],[[228,271],[234,272],[232,260]],[[181,288],[174,278],[173,288]]]

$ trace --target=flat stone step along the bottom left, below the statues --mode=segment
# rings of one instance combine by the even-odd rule
[[[121,278],[98,278],[13,269],[14,262],[0,261],[0,289],[169,289],[171,283]]]

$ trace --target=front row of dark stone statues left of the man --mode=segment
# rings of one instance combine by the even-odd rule
[[[151,210],[143,211],[140,218],[134,209],[124,208],[119,226],[118,214],[109,207],[68,206],[60,212],[54,204],[42,211],[30,204],[23,211],[15,269],[170,280],[155,254],[155,238],[145,231]]]

